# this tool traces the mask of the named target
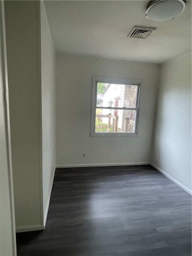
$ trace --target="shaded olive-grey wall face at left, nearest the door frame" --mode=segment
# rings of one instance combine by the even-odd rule
[[[43,229],[37,1],[5,1],[16,230]]]

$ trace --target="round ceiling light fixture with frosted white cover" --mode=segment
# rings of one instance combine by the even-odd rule
[[[153,21],[170,20],[185,10],[184,0],[157,0],[150,1],[146,7],[145,16]]]

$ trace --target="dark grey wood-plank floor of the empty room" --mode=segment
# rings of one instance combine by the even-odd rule
[[[191,196],[151,166],[57,169],[45,230],[17,255],[191,256]]]

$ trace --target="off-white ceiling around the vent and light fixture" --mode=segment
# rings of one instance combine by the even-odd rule
[[[149,1],[45,1],[57,53],[162,63],[191,52],[191,1],[172,20],[145,17]],[[133,26],[157,27],[146,39],[127,38]]]

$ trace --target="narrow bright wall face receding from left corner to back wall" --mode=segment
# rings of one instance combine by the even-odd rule
[[[47,218],[55,171],[55,52],[46,11],[41,1],[41,93],[43,215]]]

